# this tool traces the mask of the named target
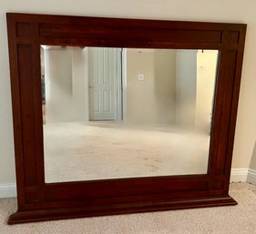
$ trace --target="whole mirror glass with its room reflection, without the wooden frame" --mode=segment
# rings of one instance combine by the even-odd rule
[[[217,50],[41,46],[46,182],[206,174]]]

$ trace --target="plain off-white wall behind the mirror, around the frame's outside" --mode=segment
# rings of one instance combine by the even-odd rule
[[[233,168],[249,168],[256,139],[256,1],[8,0],[0,2],[0,183],[15,181],[6,12],[247,23]]]

